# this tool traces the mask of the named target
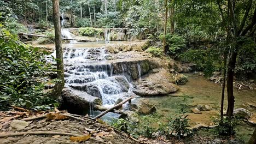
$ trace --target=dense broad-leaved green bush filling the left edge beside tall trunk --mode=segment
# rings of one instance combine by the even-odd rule
[[[49,70],[44,53],[3,32],[0,37],[0,104],[4,107],[0,109],[7,109],[8,105],[33,109],[54,106],[56,101],[45,96],[44,84],[38,78]]]

